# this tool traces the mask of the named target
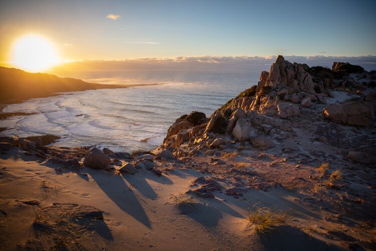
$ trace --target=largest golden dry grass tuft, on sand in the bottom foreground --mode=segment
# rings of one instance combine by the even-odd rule
[[[247,219],[255,226],[256,234],[267,233],[275,226],[287,223],[287,212],[253,206],[248,209]]]

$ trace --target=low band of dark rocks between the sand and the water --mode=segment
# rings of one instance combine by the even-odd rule
[[[3,137],[0,138],[0,151],[6,153],[12,148],[17,147],[27,156],[34,155],[44,161],[64,165],[65,167],[80,168],[85,166],[107,171],[117,169],[119,173],[132,175],[136,174],[138,169],[143,168],[161,176],[162,172],[157,168],[154,160],[176,160],[168,150],[160,150],[155,155],[142,151],[131,155],[126,152],[113,152],[108,148],[101,150],[96,147],[47,147],[42,145],[43,138],[42,136],[41,138],[36,138],[35,141],[30,141],[18,137]]]

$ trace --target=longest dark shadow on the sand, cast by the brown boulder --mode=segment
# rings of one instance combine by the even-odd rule
[[[145,210],[120,175],[108,175],[106,171],[101,170],[88,170],[88,173],[121,210],[150,228]]]

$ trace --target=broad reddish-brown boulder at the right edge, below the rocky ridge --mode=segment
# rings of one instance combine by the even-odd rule
[[[324,115],[333,122],[369,127],[374,117],[374,110],[370,102],[348,101],[325,107]]]

